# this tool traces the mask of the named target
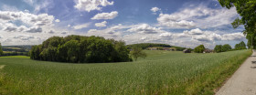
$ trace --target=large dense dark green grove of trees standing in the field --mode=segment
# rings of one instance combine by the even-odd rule
[[[30,50],[30,58],[73,63],[131,61],[123,41],[103,37],[50,37]]]

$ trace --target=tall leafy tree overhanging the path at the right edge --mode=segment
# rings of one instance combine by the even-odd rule
[[[235,19],[231,25],[234,28],[244,25],[245,30],[243,33],[248,39],[248,47],[254,46],[255,48],[256,44],[253,42],[256,43],[256,0],[219,0],[219,4],[227,8],[231,8],[233,6],[236,7],[236,10],[238,14],[240,14],[241,18]]]

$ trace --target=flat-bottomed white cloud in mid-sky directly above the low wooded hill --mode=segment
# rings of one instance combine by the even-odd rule
[[[141,24],[130,28],[128,31],[143,33],[143,34],[156,34],[161,31],[161,28],[149,26],[147,24]]]

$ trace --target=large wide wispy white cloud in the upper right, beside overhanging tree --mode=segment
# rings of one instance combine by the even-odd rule
[[[160,14],[157,21],[161,26],[172,28],[209,28],[229,25],[238,16],[235,7],[213,9],[197,5],[182,8],[173,14]]]

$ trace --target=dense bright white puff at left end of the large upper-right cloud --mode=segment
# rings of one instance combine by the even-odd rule
[[[168,14],[160,14],[157,21],[161,26],[168,26],[171,28],[191,28],[196,26],[193,21],[179,20],[180,16],[173,16]]]

